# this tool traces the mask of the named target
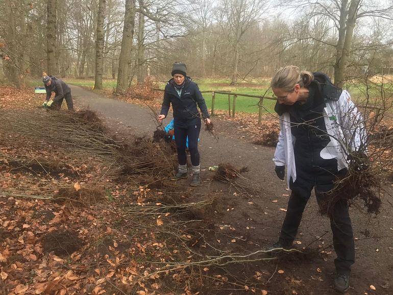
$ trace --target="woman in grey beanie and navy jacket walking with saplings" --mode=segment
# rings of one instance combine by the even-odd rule
[[[172,79],[168,81],[164,91],[164,101],[158,120],[161,122],[169,111],[170,104],[174,111],[175,142],[178,152],[179,170],[172,180],[188,178],[186,140],[188,136],[188,150],[192,163],[191,186],[200,184],[200,155],[198,151],[198,137],[201,131],[201,109],[206,124],[210,124],[210,116],[205,100],[198,85],[191,81],[186,74],[187,66],[182,62],[175,62],[172,68]],[[198,105],[198,107],[197,107]]]

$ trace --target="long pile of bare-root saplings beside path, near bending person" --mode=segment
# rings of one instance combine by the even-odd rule
[[[64,162],[67,161],[67,155],[76,156],[81,162],[91,159],[91,162],[104,167],[94,171],[97,181],[105,177],[135,185],[157,185],[162,184],[174,171],[175,156],[170,145],[164,141],[154,142],[148,137],[136,137],[127,142],[117,140],[96,113],[90,110],[76,113],[11,110],[0,111],[0,115],[3,118],[0,138],[5,142],[12,137],[13,141],[20,141],[16,146],[29,142],[38,151],[53,150],[62,158],[63,162],[57,163],[53,155],[1,155],[4,167],[16,170],[33,167],[36,173],[32,177],[38,179],[50,180],[53,178],[53,174],[48,175],[50,171],[70,174],[67,168],[72,165]],[[53,193],[46,191],[44,195],[53,196]]]

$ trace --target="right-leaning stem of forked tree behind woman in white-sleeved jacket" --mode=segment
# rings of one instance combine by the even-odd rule
[[[351,53],[353,31],[354,31],[355,25],[356,25],[356,16],[357,16],[357,11],[358,11],[358,8],[360,5],[360,1],[361,0],[352,0],[351,5],[349,7],[348,19],[347,19],[347,24],[346,24],[347,30],[345,33],[344,44],[342,46],[341,59],[340,59],[339,65],[338,65],[337,76],[334,77],[334,83],[338,87],[342,87],[342,84],[344,81],[349,55]]]

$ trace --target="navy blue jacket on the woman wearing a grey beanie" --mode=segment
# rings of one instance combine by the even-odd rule
[[[201,90],[199,90],[195,82],[192,82],[189,77],[186,77],[180,97],[172,83],[174,83],[173,79],[170,79],[165,86],[161,115],[165,115],[166,117],[170,104],[172,104],[176,125],[194,125],[195,119],[201,119],[201,115],[196,107],[198,104],[203,117],[210,117]]]

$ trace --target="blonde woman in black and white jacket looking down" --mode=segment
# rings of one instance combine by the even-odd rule
[[[332,192],[337,177],[348,173],[347,159],[365,140],[362,118],[349,93],[334,86],[323,73],[281,68],[272,79],[280,116],[280,135],[274,162],[277,176],[291,189],[279,241],[274,248],[288,248],[298,232],[304,208],[315,190],[319,205]],[[336,276],[334,287],[349,288],[355,249],[346,200],[337,202],[330,217]]]

